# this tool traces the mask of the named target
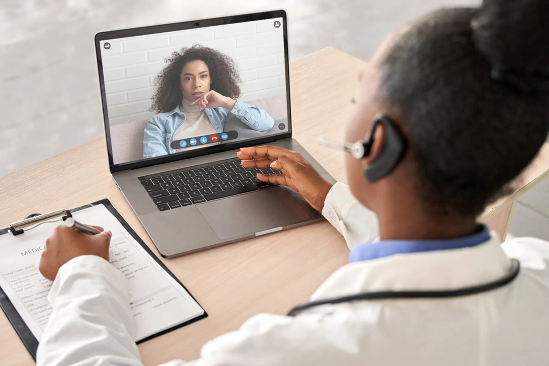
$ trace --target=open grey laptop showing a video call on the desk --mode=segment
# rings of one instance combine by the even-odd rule
[[[292,138],[283,10],[101,32],[95,44],[110,172],[162,256],[323,219],[256,178],[280,172],[236,156],[275,145],[335,182]]]

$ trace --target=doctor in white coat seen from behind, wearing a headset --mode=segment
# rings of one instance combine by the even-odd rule
[[[239,153],[243,166],[281,170],[259,177],[298,190],[351,249],[311,300],[450,297],[259,314],[208,342],[200,359],[168,365],[546,365],[549,243],[500,244],[475,218],[547,136],[548,23],[546,0],[485,0],[391,36],[358,77],[349,186],[331,187],[292,151]],[[104,259],[109,239],[58,228],[47,241],[41,271],[55,279],[54,310],[39,366],[141,365],[124,277]]]

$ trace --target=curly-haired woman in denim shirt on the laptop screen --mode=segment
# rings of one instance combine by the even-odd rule
[[[236,100],[240,76],[227,55],[200,45],[174,52],[156,77],[158,89],[143,138],[143,158],[175,153],[174,140],[221,133],[232,112],[256,131],[275,125],[264,110]]]

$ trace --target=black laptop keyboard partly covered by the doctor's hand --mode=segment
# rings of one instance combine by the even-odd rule
[[[139,177],[139,181],[158,210],[165,211],[277,185],[261,182],[257,173],[282,174],[271,168],[244,168],[234,160]]]

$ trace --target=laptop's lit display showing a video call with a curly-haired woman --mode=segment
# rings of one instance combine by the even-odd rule
[[[287,132],[282,21],[101,41],[114,164]]]

